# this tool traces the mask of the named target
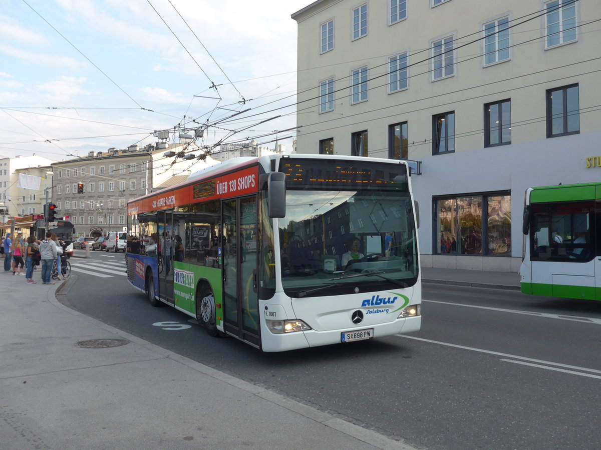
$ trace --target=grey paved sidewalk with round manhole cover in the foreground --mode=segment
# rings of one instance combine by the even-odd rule
[[[414,450],[65,307],[73,277],[34,280],[0,274],[2,450]]]

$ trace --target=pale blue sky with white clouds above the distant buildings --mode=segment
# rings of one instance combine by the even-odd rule
[[[178,143],[193,127],[200,146],[290,149],[290,15],[311,2],[0,0],[0,157],[67,160],[159,130]]]

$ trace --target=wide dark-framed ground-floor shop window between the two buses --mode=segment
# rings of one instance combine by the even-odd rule
[[[435,253],[511,256],[509,193],[435,199],[435,211]]]

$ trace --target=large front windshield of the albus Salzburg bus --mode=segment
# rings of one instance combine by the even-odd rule
[[[281,277],[290,296],[377,283],[413,286],[417,246],[404,191],[288,190],[279,219]],[[319,291],[319,292],[318,292]]]

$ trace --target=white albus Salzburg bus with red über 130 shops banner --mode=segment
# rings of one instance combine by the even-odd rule
[[[128,203],[127,273],[265,352],[418,331],[414,205],[404,161],[236,158]]]

